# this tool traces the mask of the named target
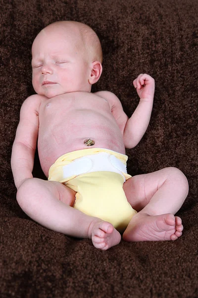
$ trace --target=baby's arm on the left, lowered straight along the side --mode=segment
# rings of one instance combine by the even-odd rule
[[[12,147],[11,168],[18,189],[28,178],[32,178],[34,155],[39,130],[40,95],[28,97],[21,106],[20,121]]]

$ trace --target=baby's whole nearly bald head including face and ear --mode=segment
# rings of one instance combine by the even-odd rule
[[[91,91],[102,73],[102,50],[97,34],[88,25],[60,21],[48,25],[32,45],[32,83],[48,98]],[[51,81],[53,83],[46,83]]]

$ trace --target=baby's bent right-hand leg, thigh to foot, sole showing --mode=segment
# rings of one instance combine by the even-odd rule
[[[176,240],[183,225],[174,214],[188,195],[188,181],[177,168],[138,175],[124,183],[131,206],[138,211],[123,234],[126,241]]]

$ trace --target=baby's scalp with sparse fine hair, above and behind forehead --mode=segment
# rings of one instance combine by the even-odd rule
[[[58,21],[49,24],[40,33],[45,34],[54,30],[65,33],[65,38],[67,36],[73,38],[77,49],[85,52],[88,60],[102,63],[102,49],[99,37],[90,26],[76,21]]]

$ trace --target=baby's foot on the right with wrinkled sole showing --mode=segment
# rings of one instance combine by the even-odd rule
[[[183,225],[173,214],[149,216],[136,214],[123,233],[125,241],[176,240],[182,235]]]

